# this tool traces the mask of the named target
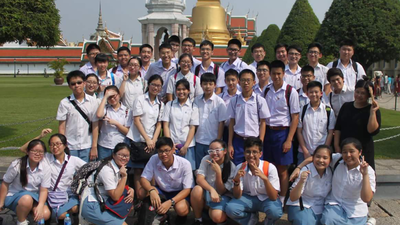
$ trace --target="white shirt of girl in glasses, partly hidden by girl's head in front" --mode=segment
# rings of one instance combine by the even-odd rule
[[[175,75],[176,75],[176,79],[175,79]],[[189,99],[191,99],[193,101],[195,97],[203,94],[203,89],[201,88],[200,78],[195,76],[190,71],[186,75],[183,75],[182,72],[172,75],[170,77],[170,79],[168,79],[167,94],[172,94],[176,98],[175,84],[176,84],[176,82],[178,82],[181,79],[186,79],[187,81],[189,81],[189,88],[190,88]],[[194,84],[194,79],[196,79],[196,84]]]

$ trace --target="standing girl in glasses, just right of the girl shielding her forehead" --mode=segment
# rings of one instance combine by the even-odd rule
[[[163,115],[164,103],[157,95],[161,92],[163,80],[160,75],[153,75],[148,80],[148,91],[137,97],[132,110],[133,122],[126,137],[134,143],[141,142],[146,145],[147,152],[154,152],[155,143],[161,131],[161,116]],[[147,162],[134,162],[128,165],[134,169],[134,186],[137,197],[143,199],[146,193],[142,189],[139,179]]]

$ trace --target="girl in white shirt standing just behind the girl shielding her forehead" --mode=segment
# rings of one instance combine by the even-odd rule
[[[142,60],[140,58],[132,57],[129,59],[129,74],[124,76],[124,80],[119,88],[122,104],[129,109],[133,109],[133,102],[138,96],[144,94],[147,88],[147,81],[140,72],[140,67],[142,67]]]

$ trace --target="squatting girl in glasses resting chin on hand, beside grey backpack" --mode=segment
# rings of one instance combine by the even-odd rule
[[[129,162],[129,158],[129,146],[125,143],[118,143],[113,150],[113,154],[104,159],[108,163],[100,170],[96,181],[94,181],[103,184],[97,187],[104,202],[108,198],[111,198],[113,201],[118,201],[121,198],[127,181],[126,165]],[[93,180],[94,174],[88,178],[88,181]],[[82,199],[81,214],[86,221],[104,225],[127,225],[125,222],[126,218],[120,218],[110,210],[102,211],[100,209],[100,203],[93,187],[88,186],[84,192],[88,194],[86,198]],[[123,201],[132,203],[134,196],[133,189],[129,188],[127,194]]]

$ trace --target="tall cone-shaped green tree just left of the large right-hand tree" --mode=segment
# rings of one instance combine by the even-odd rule
[[[307,46],[313,42],[319,27],[319,20],[308,0],[296,0],[282,26],[277,43],[300,46],[303,49],[303,57],[299,64],[304,65],[307,61]]]

